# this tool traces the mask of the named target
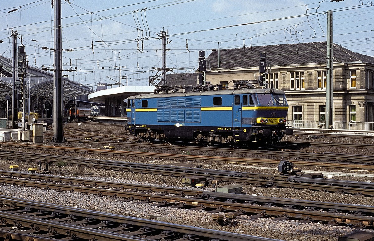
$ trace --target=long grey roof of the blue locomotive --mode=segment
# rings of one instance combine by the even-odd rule
[[[130,96],[128,99],[137,98],[162,98],[162,97],[185,97],[185,96],[213,96],[213,95],[226,95],[226,94],[252,94],[252,93],[271,93],[270,88],[267,89],[235,89],[235,90],[215,90],[204,92],[185,92],[185,93],[166,93],[166,94],[140,94],[137,96]],[[282,90],[274,89],[273,94],[284,94]]]

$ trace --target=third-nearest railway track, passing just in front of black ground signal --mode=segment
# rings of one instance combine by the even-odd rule
[[[48,162],[49,165],[53,165],[54,163],[57,164],[58,162],[64,162],[72,166],[149,173],[175,177],[199,175],[209,180],[243,183],[257,185],[258,187],[308,189],[313,191],[327,191],[332,193],[374,196],[374,184],[367,182],[337,181],[321,178],[305,178],[297,176],[232,172],[179,166],[150,165],[143,163],[117,162],[97,159],[95,160],[91,158],[88,159],[81,157],[25,153],[19,151],[1,151],[0,153],[1,157],[7,160],[25,159],[34,161],[36,163]]]

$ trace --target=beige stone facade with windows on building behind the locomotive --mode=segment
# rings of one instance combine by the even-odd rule
[[[355,58],[352,59],[357,60],[360,56],[363,55],[356,54]],[[368,62],[368,59],[374,60],[374,58],[364,57],[366,57],[364,59],[366,62],[334,61],[335,121],[373,122],[374,61]],[[321,59],[319,57],[319,61]],[[297,63],[273,65],[273,62],[276,61],[270,61],[271,68],[268,66],[266,82],[269,83],[268,86],[286,92],[289,104],[288,119],[298,117],[299,120],[324,121],[326,63],[325,60],[323,61],[324,63],[304,63],[301,65]],[[212,68],[206,72],[206,82],[211,84],[227,82],[229,88],[233,87],[232,81],[235,79],[254,80],[258,77],[258,66]]]

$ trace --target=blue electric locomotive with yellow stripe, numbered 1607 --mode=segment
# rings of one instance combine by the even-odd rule
[[[144,140],[243,145],[293,134],[285,94],[273,88],[144,94],[127,108],[130,133]]]

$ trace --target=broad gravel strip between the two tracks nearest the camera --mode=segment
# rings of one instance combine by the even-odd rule
[[[137,201],[123,202],[110,197],[59,192],[34,188],[1,185],[2,195],[42,201],[58,205],[96,210],[119,215],[149,218],[159,216],[163,221],[180,225],[236,232],[286,241],[321,240],[337,241],[338,237],[355,231],[344,226],[327,226],[321,223],[299,223],[294,220],[274,221],[272,219],[250,219],[246,215],[237,217],[236,226],[220,226],[211,214],[202,210],[180,210],[170,207],[153,207],[151,204],[137,204]],[[221,213],[224,214],[224,213]],[[374,232],[374,230],[371,230]]]

